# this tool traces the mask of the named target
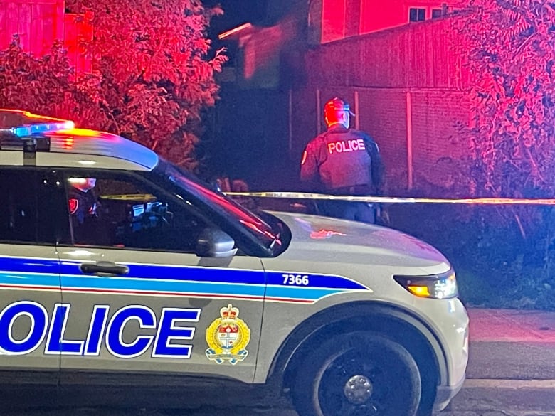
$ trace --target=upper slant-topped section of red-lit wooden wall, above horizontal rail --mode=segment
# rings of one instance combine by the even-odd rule
[[[465,87],[468,73],[454,48],[460,17],[421,22],[327,43],[307,54],[314,85],[379,88]]]

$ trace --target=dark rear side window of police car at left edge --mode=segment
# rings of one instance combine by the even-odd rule
[[[0,169],[0,241],[55,241],[53,183],[47,171]]]

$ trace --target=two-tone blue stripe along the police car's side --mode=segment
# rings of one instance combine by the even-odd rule
[[[83,292],[162,292],[191,297],[214,295],[259,300],[266,297],[285,302],[317,302],[332,294],[370,291],[346,277],[326,274],[302,274],[308,277],[308,284],[296,285],[287,284],[285,276],[290,272],[266,272],[266,286],[261,270],[129,264],[126,277],[97,277],[80,272],[81,263],[0,257],[0,284],[28,289],[57,289],[60,285],[60,270],[63,289]]]

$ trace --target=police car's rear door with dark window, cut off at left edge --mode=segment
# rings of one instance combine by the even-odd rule
[[[61,301],[55,244],[60,191],[51,171],[0,168],[0,370],[13,372],[3,373],[11,383],[58,382],[52,318]]]

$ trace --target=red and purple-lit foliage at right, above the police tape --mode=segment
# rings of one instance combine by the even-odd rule
[[[477,194],[555,189],[555,10],[548,0],[474,0],[457,31],[470,75]],[[550,192],[551,193],[551,192]]]

